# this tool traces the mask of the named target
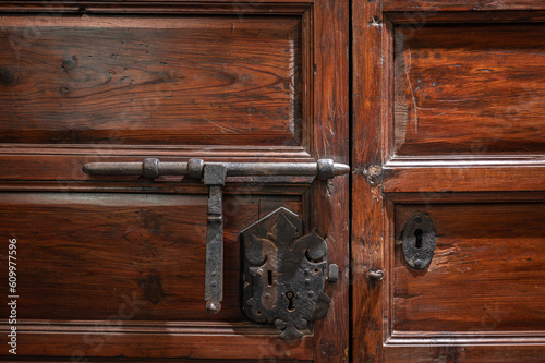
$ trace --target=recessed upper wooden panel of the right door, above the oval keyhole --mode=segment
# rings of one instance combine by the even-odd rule
[[[395,36],[397,155],[545,152],[545,26],[409,26]]]

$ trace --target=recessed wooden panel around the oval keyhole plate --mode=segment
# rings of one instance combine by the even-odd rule
[[[437,235],[424,270],[409,267],[401,251],[416,210],[429,213]],[[393,329],[545,336],[544,222],[537,203],[398,205]]]

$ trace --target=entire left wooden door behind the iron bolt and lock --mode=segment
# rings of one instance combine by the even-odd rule
[[[82,170],[348,162],[348,1],[2,1],[0,359],[348,359],[348,176],[228,177],[209,314],[208,186]],[[279,207],[339,267],[327,316],[294,340],[241,312],[239,232]]]

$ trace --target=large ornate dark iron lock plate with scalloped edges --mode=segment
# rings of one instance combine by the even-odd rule
[[[338,280],[339,267],[327,266],[327,243],[316,229],[303,234],[303,221],[279,208],[240,233],[244,256],[243,304],[247,318],[275,324],[282,339],[310,334],[331,300],[326,280]],[[326,277],[327,275],[327,277]]]

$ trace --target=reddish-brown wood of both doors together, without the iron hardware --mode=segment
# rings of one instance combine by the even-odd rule
[[[543,360],[544,3],[354,0],[352,29],[349,4],[0,3],[0,231],[25,242],[21,360]],[[209,316],[206,187],[81,171],[145,157],[329,157],[352,174],[229,179],[226,300]],[[340,268],[327,317],[295,342],[238,302],[238,232],[278,206]],[[414,210],[437,229],[424,271],[399,244]],[[112,325],[133,291],[137,314]]]

